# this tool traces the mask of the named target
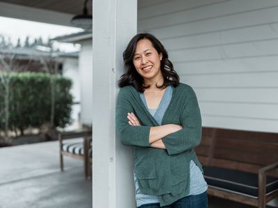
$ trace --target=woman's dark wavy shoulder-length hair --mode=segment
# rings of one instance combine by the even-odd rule
[[[135,35],[129,44],[126,46],[126,49],[123,53],[124,58],[124,67],[126,69],[126,73],[124,73],[119,82],[119,87],[124,87],[127,85],[132,85],[139,92],[144,92],[145,89],[149,88],[149,85],[144,85],[144,78],[140,76],[140,74],[136,71],[136,68],[133,65],[133,56],[136,51],[137,43],[142,40],[147,39],[152,42],[154,49],[158,52],[158,54],[162,54],[161,60],[161,72],[163,75],[163,85],[156,87],[165,88],[168,85],[172,85],[173,87],[177,87],[179,85],[179,76],[176,71],[174,71],[174,66],[172,62],[168,59],[168,53],[165,50],[163,44],[154,37],[154,35],[150,33],[139,33]]]

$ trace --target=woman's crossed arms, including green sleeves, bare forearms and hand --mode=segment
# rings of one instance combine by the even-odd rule
[[[199,145],[202,136],[202,121],[197,98],[193,89],[188,89],[181,110],[179,125],[140,125],[125,89],[118,95],[116,130],[122,144],[126,146],[153,147],[167,150],[169,155],[178,155]],[[138,113],[140,108],[137,108]],[[127,116],[127,119],[126,119]]]

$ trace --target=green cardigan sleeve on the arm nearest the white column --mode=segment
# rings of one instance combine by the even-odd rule
[[[126,146],[150,147],[149,131],[150,126],[133,126],[129,125],[127,119],[128,112],[134,112],[133,106],[129,101],[130,93],[126,89],[121,89],[117,97],[116,110],[116,132],[117,138]]]

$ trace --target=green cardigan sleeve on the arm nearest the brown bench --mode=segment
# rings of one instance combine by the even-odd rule
[[[169,155],[177,155],[198,146],[202,137],[202,119],[195,92],[190,90],[183,105],[180,122],[183,128],[163,138]]]

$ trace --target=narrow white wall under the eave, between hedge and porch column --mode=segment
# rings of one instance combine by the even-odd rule
[[[81,123],[92,125],[92,40],[80,44]]]

